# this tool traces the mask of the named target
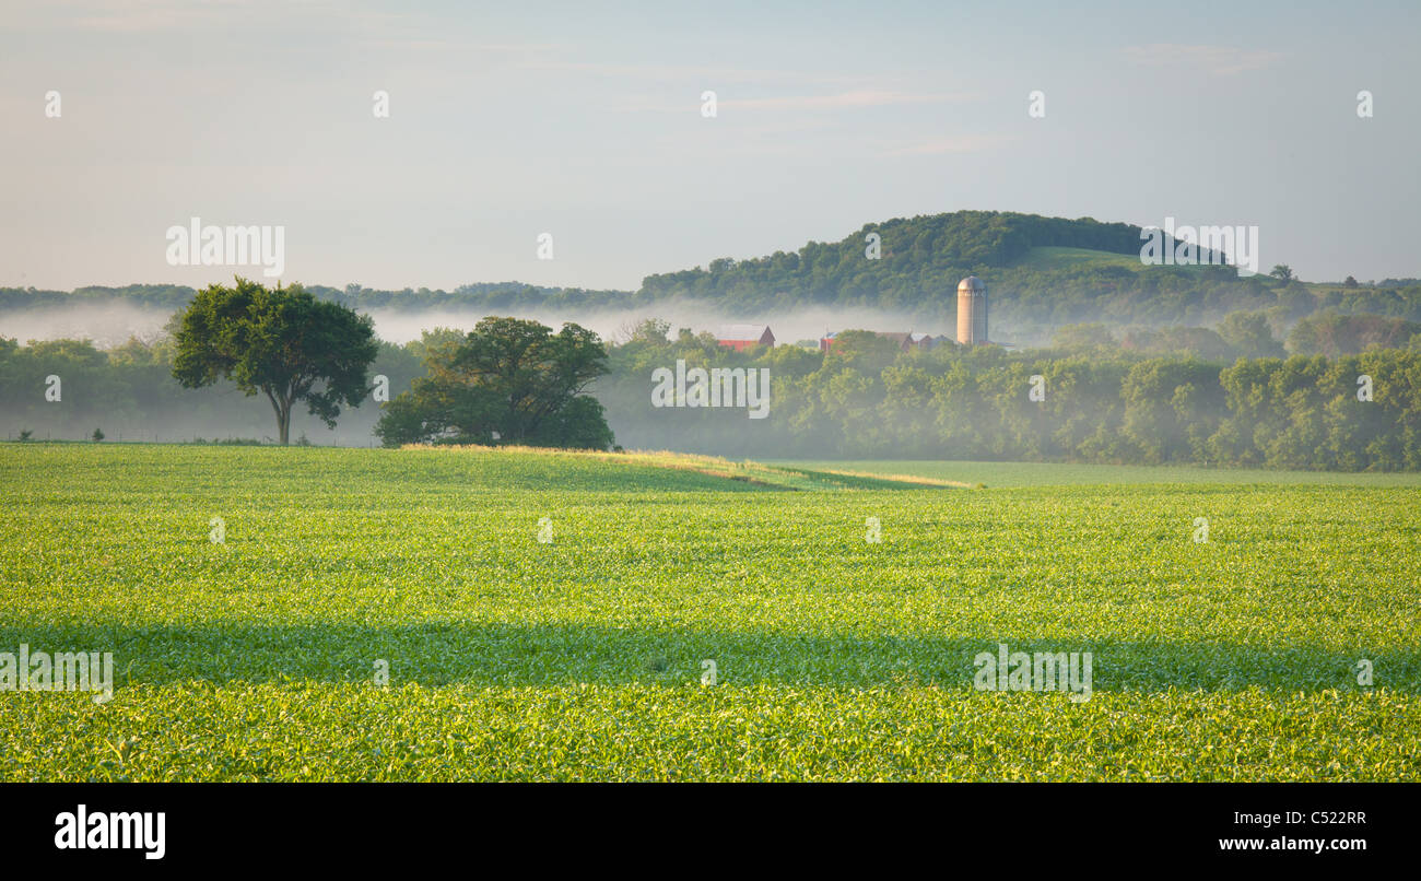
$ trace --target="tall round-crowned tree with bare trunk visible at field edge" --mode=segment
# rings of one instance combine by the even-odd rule
[[[368,315],[308,294],[300,284],[267,290],[237,279],[213,284],[182,314],[173,377],[185,388],[232,379],[247,396],[261,392],[276,411],[281,443],[291,436],[291,408],[335,428],[341,404],[369,394],[365,371],[379,350]]]

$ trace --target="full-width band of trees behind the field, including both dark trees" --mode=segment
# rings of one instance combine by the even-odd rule
[[[1141,354],[1090,334],[1009,352],[951,344],[901,351],[875,334],[845,331],[827,354],[790,345],[736,352],[689,330],[668,340],[669,325],[644,321],[608,351],[576,324],[554,333],[517,318],[392,347],[374,340],[368,318],[300,287],[267,290],[240,279],[202,291],[172,327],[173,337],[156,345],[107,352],[74,341],[0,340],[4,418],[65,414],[78,436],[94,428],[115,436],[135,422],[153,428],[195,411],[222,416],[264,399],[266,425],[274,414],[284,443],[298,409],[348,425],[344,409],[385,401],[384,385],[388,402],[365,408],[364,433],[345,442],[368,442],[374,432],[387,445],[607,449],[615,431],[628,446],[759,458],[1421,467],[1421,347],[1228,362]],[[1241,347],[1268,340],[1258,321],[1223,330]],[[692,372],[767,369],[769,418],[750,419],[729,395],[719,408],[654,406],[654,374],[678,362]],[[257,412],[247,406],[249,418]]]

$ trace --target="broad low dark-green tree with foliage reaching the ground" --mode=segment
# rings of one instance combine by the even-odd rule
[[[387,445],[432,439],[607,449],[603,408],[583,392],[607,374],[593,331],[522,318],[480,321],[462,340],[425,354],[428,377],[385,406],[375,433]]]

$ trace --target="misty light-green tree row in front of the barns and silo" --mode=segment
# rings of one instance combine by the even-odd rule
[[[595,389],[622,443],[760,458],[909,458],[1421,467],[1421,351],[1233,364],[1128,352],[901,352],[864,333],[830,354],[732,352],[644,327]],[[651,371],[763,367],[770,415],[654,408]],[[1033,377],[1040,379],[1033,382]],[[1370,401],[1358,399],[1370,378]],[[1042,399],[1032,399],[1032,389]]]

